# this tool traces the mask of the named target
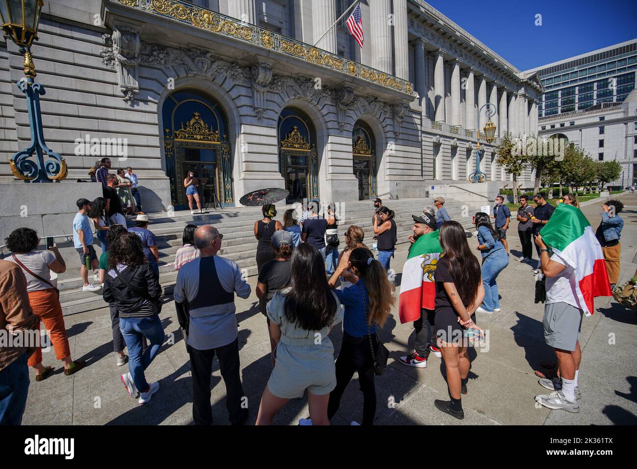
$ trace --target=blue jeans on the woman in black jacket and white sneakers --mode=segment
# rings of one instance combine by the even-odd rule
[[[128,347],[128,369],[131,371],[132,381],[140,392],[148,391],[148,382],[144,370],[159,354],[159,349],[164,343],[164,327],[159,316],[145,318],[120,317],[120,331],[124,336],[124,342]],[[147,338],[150,346],[146,352],[141,351],[141,341]]]

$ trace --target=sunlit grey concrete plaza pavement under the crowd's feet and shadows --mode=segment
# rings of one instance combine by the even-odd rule
[[[626,205],[622,232],[622,279],[631,278],[637,268],[637,195],[620,196]],[[599,224],[599,203],[582,207],[594,228]],[[464,421],[441,413],[434,399],[447,399],[441,360],[433,355],[426,369],[403,366],[400,355],[413,347],[413,325],[399,324],[397,302],[387,324],[380,332],[390,350],[389,366],[376,378],[378,396],[375,424],[637,424],[637,316],[612,298],[596,299],[596,313],[584,318],[580,368],[582,399],[580,413],[538,408],[533,397],[545,394],[533,370],[540,362],[554,361],[552,350],[543,339],[543,305],[534,304],[534,277],[529,265],[515,260],[520,255],[517,222],[508,232],[510,264],[497,283],[501,312],[478,314],[478,324],[488,329],[488,348],[472,350],[468,395],[462,399]],[[469,239],[471,248],[475,239]],[[396,281],[406,259],[408,244],[397,247],[392,268]],[[476,251],[477,253],[477,251]],[[248,399],[250,420],[254,424],[261,395],[271,373],[266,320],[259,313],[254,295],[256,277],[248,279],[253,293],[246,300],[236,299],[239,321],[240,359],[243,390]],[[398,291],[396,292],[397,297]],[[176,320],[172,302],[161,313],[169,340],[147,370],[148,381],[161,387],[148,405],[130,398],[119,375],[127,366],[115,366],[108,308],[66,316],[66,326],[74,359],[88,362],[87,368],[73,376],[64,376],[61,362],[51,350],[44,364],[56,367],[54,375],[36,382],[31,370],[29,398],[23,424],[192,424],[192,379],[189,358]],[[338,330],[337,330],[338,329]],[[331,339],[336,355],[341,331]],[[211,376],[213,418],[215,424],[227,424],[225,386],[218,362]],[[275,424],[297,424],[308,415],[305,399],[294,399],[283,408]],[[362,393],[357,376],[348,385],[341,408],[333,424],[350,424],[362,417]]]

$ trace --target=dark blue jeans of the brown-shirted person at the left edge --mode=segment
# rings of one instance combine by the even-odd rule
[[[22,424],[29,393],[27,352],[0,371],[0,425]]]

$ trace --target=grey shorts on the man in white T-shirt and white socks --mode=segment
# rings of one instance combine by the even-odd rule
[[[564,302],[544,305],[544,339],[547,345],[561,350],[575,350],[580,340],[582,309]]]

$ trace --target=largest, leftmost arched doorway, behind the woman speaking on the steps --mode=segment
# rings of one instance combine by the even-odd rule
[[[173,206],[187,204],[183,179],[190,171],[199,178],[202,204],[234,206],[228,120],[218,101],[198,89],[178,89],[164,100],[162,118]]]

